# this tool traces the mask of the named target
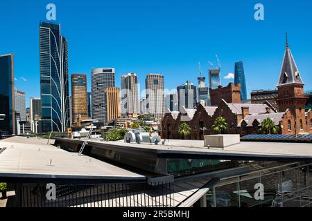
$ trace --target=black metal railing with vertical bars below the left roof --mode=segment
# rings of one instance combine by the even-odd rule
[[[45,185],[23,184],[19,195],[21,207],[172,207],[174,201],[171,183],[58,185],[55,199]]]

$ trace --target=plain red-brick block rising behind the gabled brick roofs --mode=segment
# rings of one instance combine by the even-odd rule
[[[227,103],[241,104],[241,84],[235,86],[235,84],[229,83],[226,87],[210,88],[209,93],[211,106],[218,106],[222,99]]]

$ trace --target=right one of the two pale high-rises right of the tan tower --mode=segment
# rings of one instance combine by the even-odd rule
[[[164,117],[164,75],[148,74],[146,84],[146,111],[154,117]]]

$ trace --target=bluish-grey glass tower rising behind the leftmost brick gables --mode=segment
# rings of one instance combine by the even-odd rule
[[[179,110],[182,106],[187,109],[193,109],[197,106],[197,89],[191,81],[177,87],[177,103]]]

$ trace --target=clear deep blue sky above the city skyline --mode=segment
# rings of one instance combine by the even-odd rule
[[[312,89],[312,1],[0,1],[0,54],[15,53],[15,84],[27,104],[40,96],[39,22],[48,3],[69,40],[69,71],[87,74],[88,84],[93,67],[114,67],[117,86],[126,73],[137,73],[142,88],[147,73],[163,73],[172,89],[196,83],[198,61],[207,77],[217,53],[223,77],[243,61],[248,93],[273,89],[288,32],[305,90]],[[254,20],[256,3],[265,7],[264,21]]]

